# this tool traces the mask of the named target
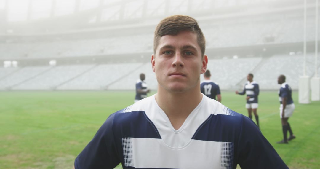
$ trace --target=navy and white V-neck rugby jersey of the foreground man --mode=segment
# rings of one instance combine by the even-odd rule
[[[288,168],[258,127],[204,97],[175,130],[155,95],[111,114],[75,160],[76,169]]]

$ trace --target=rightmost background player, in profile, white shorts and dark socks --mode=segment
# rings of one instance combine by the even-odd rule
[[[288,141],[295,139],[296,136],[293,135],[290,124],[288,123],[289,117],[292,116],[294,111],[294,104],[292,100],[292,90],[291,87],[285,83],[285,76],[280,75],[278,77],[278,84],[281,85],[279,90],[279,101],[280,101],[280,118],[282,123],[283,140],[277,143],[289,143]],[[287,132],[289,131],[290,137],[287,139]]]

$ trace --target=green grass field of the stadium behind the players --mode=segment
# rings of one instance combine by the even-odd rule
[[[282,139],[277,91],[259,95],[260,127],[292,169],[320,168],[320,101],[298,104],[289,120],[297,136]],[[132,104],[133,91],[0,92],[0,168],[64,169],[113,112]],[[247,115],[245,97],[222,91],[222,103]]]

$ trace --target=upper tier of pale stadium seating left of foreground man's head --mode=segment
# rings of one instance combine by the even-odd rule
[[[0,43],[0,57],[59,58],[151,52],[152,44],[152,34],[73,41]]]

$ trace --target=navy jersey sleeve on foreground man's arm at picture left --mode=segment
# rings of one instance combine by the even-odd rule
[[[76,169],[111,169],[120,163],[112,128],[114,116],[115,114],[111,114],[108,117],[93,139],[76,157]]]

